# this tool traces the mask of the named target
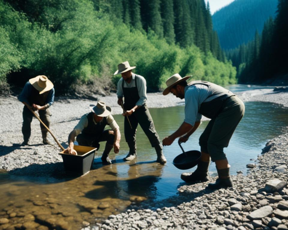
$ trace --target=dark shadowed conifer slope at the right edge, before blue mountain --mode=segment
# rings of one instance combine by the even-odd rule
[[[264,24],[262,34],[227,52],[240,82],[262,82],[288,73],[288,0],[278,0],[277,16]]]

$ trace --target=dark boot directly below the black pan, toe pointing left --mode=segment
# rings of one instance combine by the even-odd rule
[[[181,179],[187,183],[205,182],[209,180],[208,168],[210,162],[199,161],[193,173],[182,173]]]

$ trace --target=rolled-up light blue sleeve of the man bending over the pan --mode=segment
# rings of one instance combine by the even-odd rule
[[[185,93],[185,119],[184,122],[194,126],[198,115],[197,90],[187,90]]]

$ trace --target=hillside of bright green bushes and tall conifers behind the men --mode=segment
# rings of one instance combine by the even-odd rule
[[[128,60],[149,91],[172,74],[236,82],[204,0],[0,0],[0,86],[44,74],[56,94],[101,79]],[[59,90],[61,89],[61,90]]]

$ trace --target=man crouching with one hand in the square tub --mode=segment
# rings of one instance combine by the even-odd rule
[[[90,105],[91,112],[81,117],[78,124],[68,137],[68,152],[74,154],[75,137],[78,144],[82,146],[92,146],[99,149],[99,142],[106,141],[106,146],[101,157],[103,164],[112,164],[109,153],[114,147],[114,152],[118,153],[120,148],[121,134],[119,125],[117,125],[111,115],[111,108],[106,106],[105,102],[97,102],[97,105]],[[112,130],[105,130],[109,125]]]

